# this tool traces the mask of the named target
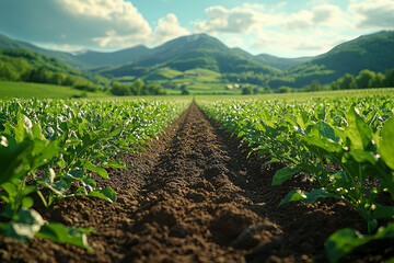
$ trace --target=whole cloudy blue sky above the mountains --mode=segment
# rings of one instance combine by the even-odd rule
[[[113,52],[206,33],[253,55],[315,56],[394,30],[394,0],[0,0],[0,34]]]

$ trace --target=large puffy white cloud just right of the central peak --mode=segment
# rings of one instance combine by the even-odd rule
[[[254,54],[306,56],[329,50],[349,28],[346,12],[327,1],[311,3],[296,12],[289,12],[286,7],[285,2],[244,3],[233,9],[215,5],[206,9],[206,20],[196,22],[194,30],[213,34],[229,46],[240,46]],[[234,18],[242,18],[239,24],[231,24]]]

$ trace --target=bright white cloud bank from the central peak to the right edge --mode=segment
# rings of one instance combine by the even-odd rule
[[[394,28],[394,0],[309,1],[298,9],[289,4],[210,7],[205,10],[206,19],[195,22],[194,32],[215,34],[228,45],[247,50],[288,50],[303,56],[328,52],[340,42],[371,33],[366,28]]]

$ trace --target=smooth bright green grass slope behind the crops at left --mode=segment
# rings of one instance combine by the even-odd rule
[[[83,92],[72,87],[0,81],[0,98],[67,99],[72,96],[104,98],[105,92]]]

